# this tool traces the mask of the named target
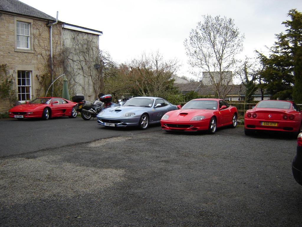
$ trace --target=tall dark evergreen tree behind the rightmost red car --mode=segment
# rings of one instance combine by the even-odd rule
[[[302,103],[302,14],[292,9],[288,16],[291,20],[282,23],[285,33],[276,35],[269,57],[258,52],[264,66],[261,77],[273,99]]]

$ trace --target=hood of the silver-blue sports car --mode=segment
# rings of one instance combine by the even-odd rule
[[[103,115],[101,117],[120,117],[125,113],[137,113],[139,111],[149,111],[152,110],[150,107],[132,107],[132,106],[119,106],[111,107],[103,110]],[[137,117],[134,115],[134,117]]]

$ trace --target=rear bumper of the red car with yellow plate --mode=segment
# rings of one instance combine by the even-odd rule
[[[278,123],[278,126],[263,126],[261,122]],[[292,120],[263,120],[244,118],[244,127],[251,130],[268,130],[268,131],[281,131],[281,132],[298,132],[300,130],[300,122]]]

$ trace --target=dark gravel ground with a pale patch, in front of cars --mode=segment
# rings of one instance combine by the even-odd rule
[[[118,134],[3,156],[0,226],[302,226],[295,139]]]

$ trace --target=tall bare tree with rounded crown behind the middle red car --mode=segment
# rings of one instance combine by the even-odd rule
[[[243,49],[244,35],[240,35],[232,18],[210,15],[203,18],[204,22],[198,22],[184,42],[189,64],[200,72],[208,72],[215,93],[219,98],[225,98],[232,89],[229,86],[232,79],[225,75],[237,63],[235,56]]]

